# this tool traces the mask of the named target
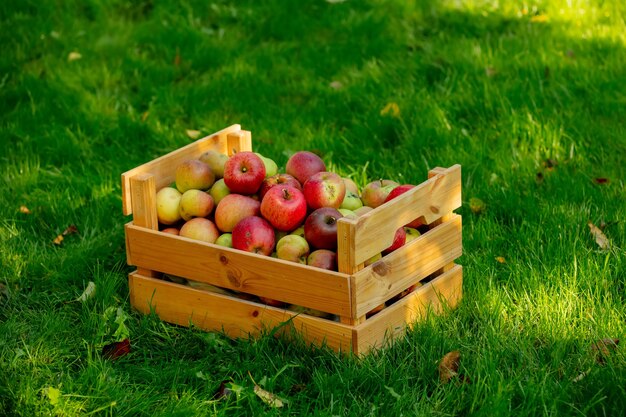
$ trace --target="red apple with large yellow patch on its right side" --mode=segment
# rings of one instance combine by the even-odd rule
[[[346,195],[346,185],[334,172],[322,171],[313,174],[302,186],[307,205],[312,209],[321,207],[339,208]]]

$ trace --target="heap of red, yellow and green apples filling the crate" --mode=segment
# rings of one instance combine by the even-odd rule
[[[208,151],[176,168],[176,182],[157,192],[161,230],[190,239],[337,270],[337,220],[357,218],[413,185],[366,184],[326,170],[316,154],[299,151],[278,172],[254,152],[231,157]],[[415,220],[400,227],[373,263],[420,235]]]

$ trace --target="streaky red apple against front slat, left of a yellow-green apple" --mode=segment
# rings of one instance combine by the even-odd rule
[[[259,216],[248,216],[233,229],[233,248],[269,256],[274,250],[274,229]]]

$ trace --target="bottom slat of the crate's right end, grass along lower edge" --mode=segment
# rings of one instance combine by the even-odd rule
[[[453,308],[462,295],[463,269],[460,265],[416,289],[397,303],[387,307],[354,330],[354,353],[362,355],[373,347],[403,334],[407,326],[423,318],[429,308],[436,313],[444,305]]]

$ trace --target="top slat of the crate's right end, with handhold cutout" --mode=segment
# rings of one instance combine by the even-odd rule
[[[460,206],[461,166],[454,165],[356,219],[354,264],[389,247],[396,229],[415,218],[424,217],[430,224]],[[338,223],[347,221],[339,219]]]

